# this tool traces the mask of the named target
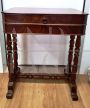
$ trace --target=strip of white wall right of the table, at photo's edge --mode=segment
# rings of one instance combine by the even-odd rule
[[[90,14],[90,8],[89,8],[89,14]],[[88,67],[90,67],[90,15],[88,16],[86,35],[84,38],[80,73],[81,74],[87,73]]]

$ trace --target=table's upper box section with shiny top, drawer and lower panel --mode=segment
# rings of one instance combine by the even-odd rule
[[[85,34],[87,14],[76,9],[15,7],[2,14],[5,33]]]

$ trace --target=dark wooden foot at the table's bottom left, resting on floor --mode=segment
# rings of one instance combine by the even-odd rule
[[[7,99],[12,99],[13,97],[13,91],[14,91],[14,82],[10,82],[8,83],[8,91],[7,91],[7,94],[6,94],[6,98]]]

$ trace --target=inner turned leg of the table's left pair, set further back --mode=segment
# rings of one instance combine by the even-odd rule
[[[17,34],[12,34],[13,37],[13,53],[14,53],[14,73],[15,76],[20,73],[20,68],[18,67],[18,54],[17,54]]]

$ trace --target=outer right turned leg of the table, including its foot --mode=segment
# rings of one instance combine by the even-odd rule
[[[81,44],[81,36],[77,36],[76,44],[75,44],[75,53],[74,53],[74,60],[72,66],[72,74],[71,74],[71,96],[73,100],[78,100],[77,96],[77,85],[76,85],[76,73],[78,68],[78,57],[79,57],[79,50]]]

